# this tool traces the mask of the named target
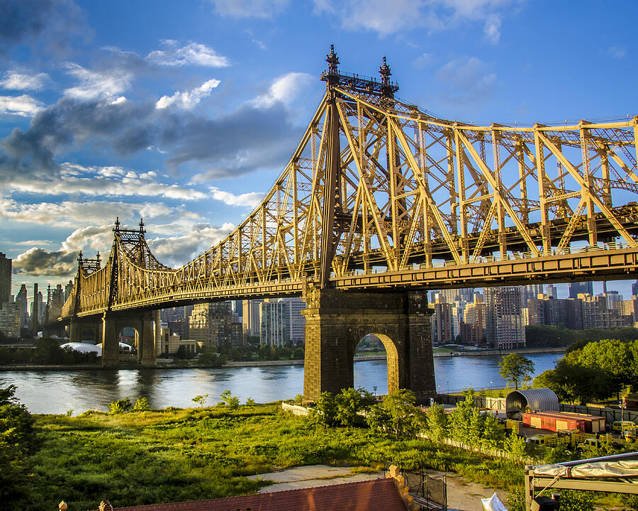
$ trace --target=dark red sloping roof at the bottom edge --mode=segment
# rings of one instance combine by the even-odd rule
[[[113,511],[405,511],[392,478]]]

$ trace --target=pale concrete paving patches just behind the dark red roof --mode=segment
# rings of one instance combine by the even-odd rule
[[[432,476],[442,474],[437,471],[427,471]],[[352,474],[349,467],[332,467],[328,465],[310,465],[289,468],[280,472],[249,476],[250,479],[269,479],[275,484],[265,486],[259,493],[269,493],[283,490],[296,490],[298,488],[312,488],[315,486],[327,486],[342,483],[354,483],[355,481],[378,479],[385,477],[383,472]],[[491,497],[492,488],[469,483],[460,476],[447,475],[447,506],[450,511],[483,511],[481,498]],[[507,503],[507,493],[498,491],[498,498]]]

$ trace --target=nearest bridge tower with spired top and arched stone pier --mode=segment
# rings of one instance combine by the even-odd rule
[[[398,86],[390,80],[390,67],[385,57],[379,68],[380,81],[340,74],[337,69],[339,59],[332,45],[326,62],[328,70],[321,77],[326,82],[328,97],[328,133],[325,134],[320,265],[315,273],[318,281],[308,283],[303,292],[307,304],[302,312],[306,317],[303,397],[313,401],[321,392],[336,395],[342,388],[354,387],[354,351],[366,334],[375,334],[386,348],[388,392],[410,389],[417,401],[423,402],[435,393],[436,388],[430,329],[432,310],[427,307],[425,292],[364,292],[330,287],[335,248],[347,231],[339,222],[343,186],[337,87],[364,90],[391,106]],[[396,143],[394,147],[397,147]],[[388,154],[388,160],[397,157]],[[389,179],[396,180],[398,176],[391,175]],[[401,202],[398,207],[402,207]]]

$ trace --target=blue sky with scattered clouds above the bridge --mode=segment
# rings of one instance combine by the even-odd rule
[[[446,119],[638,114],[633,1],[0,0],[0,251],[22,283],[108,252],[143,216],[162,262],[259,203],[325,84],[376,75]],[[611,284],[629,295],[625,283]],[[598,290],[599,287],[596,288]]]

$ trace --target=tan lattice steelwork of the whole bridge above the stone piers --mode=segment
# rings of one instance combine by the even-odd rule
[[[272,189],[178,270],[116,224],[103,268],[80,264],[62,315],[337,287],[627,278],[637,268],[638,118],[474,126],[340,74]],[[593,272],[598,272],[597,274]]]

